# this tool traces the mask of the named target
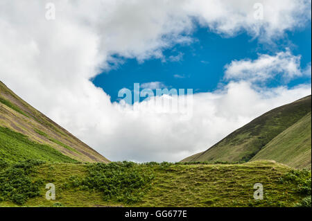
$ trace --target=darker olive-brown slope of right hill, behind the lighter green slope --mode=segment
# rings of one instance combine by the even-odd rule
[[[182,161],[249,161],[275,136],[309,112],[311,112],[311,96],[306,96],[288,105],[272,109],[232,132],[205,152]]]

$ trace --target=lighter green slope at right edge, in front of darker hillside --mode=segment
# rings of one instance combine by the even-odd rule
[[[275,136],[251,161],[259,159],[311,169],[311,112]]]

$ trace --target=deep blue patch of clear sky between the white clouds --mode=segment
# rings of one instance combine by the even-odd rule
[[[125,59],[110,71],[103,71],[92,80],[111,96],[112,102],[118,100],[118,91],[122,88],[133,89],[134,83],[162,82],[163,87],[191,88],[193,93],[214,91],[224,80],[225,65],[232,60],[249,58],[255,60],[258,53],[274,55],[278,51],[290,48],[293,55],[301,55],[301,68],[305,69],[311,62],[311,24],[300,30],[288,31],[273,44],[262,44],[259,39],[252,39],[248,33],[240,33],[235,37],[225,37],[209,32],[207,28],[198,26],[193,33],[192,42],[177,44],[163,51],[164,59],[153,58],[138,62],[136,59]],[[172,56],[172,57],[171,57]],[[174,58],[180,58],[177,60]],[[286,85],[295,87],[311,82],[311,78],[295,78],[284,82],[275,76],[266,87]]]

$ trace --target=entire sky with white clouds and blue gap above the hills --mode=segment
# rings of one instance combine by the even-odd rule
[[[311,94],[309,0],[1,0],[0,33],[1,81],[112,161],[180,161]],[[191,114],[125,111],[135,83],[193,89]]]

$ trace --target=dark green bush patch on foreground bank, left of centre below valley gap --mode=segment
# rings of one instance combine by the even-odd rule
[[[90,164],[88,173],[84,179],[71,177],[71,185],[101,191],[105,201],[115,200],[125,204],[141,200],[153,179],[147,167],[128,161]]]

